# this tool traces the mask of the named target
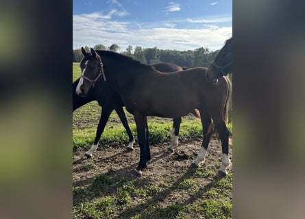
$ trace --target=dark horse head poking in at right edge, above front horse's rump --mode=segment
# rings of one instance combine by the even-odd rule
[[[225,45],[220,49],[215,60],[206,71],[206,79],[210,83],[215,83],[223,75],[232,73],[233,70],[233,38],[225,41]]]

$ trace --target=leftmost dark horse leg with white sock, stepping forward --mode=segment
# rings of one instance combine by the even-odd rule
[[[108,118],[111,112],[114,110],[114,107],[105,106],[101,109],[101,118],[99,119],[99,125],[97,126],[97,133],[95,135],[95,141],[91,148],[85,153],[86,157],[92,157],[93,152],[97,151],[97,146],[99,145],[99,139],[101,138],[101,134],[105,129],[106,123],[108,122]]]

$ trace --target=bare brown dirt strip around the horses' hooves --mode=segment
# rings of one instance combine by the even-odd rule
[[[188,143],[180,142],[175,152],[169,153],[167,146],[169,144],[151,145],[151,161],[148,162],[147,168],[143,170],[141,178],[149,177],[158,178],[158,176],[179,176],[183,169],[191,165],[191,162],[197,157],[201,146],[201,141]],[[76,151],[73,153],[73,187],[87,188],[96,175],[113,172],[115,178],[135,177],[132,172],[136,168],[139,158],[140,149],[138,144],[134,145],[134,151],[127,152],[124,147],[102,147],[93,153],[93,157],[86,159],[86,151]],[[230,159],[232,162],[232,146],[229,148]],[[208,166],[215,172],[221,166],[221,142],[218,139],[210,140],[206,154],[206,162],[202,166]],[[88,163],[94,163],[96,166],[90,170],[84,170]],[[228,168],[232,172],[232,164]]]

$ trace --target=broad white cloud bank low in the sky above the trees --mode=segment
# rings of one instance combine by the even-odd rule
[[[188,19],[188,22],[203,23],[200,29],[195,29],[193,25],[192,28],[190,25],[187,28],[177,28],[178,25],[173,22],[140,25],[137,22],[110,21],[103,17],[105,16],[101,13],[73,15],[73,49],[94,47],[96,44],[110,47],[117,43],[121,51],[125,51],[128,45],[179,51],[207,47],[210,51],[215,51],[232,36],[232,27],[219,27],[215,23],[204,23],[202,19]]]

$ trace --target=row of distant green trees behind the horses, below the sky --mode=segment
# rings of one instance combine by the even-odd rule
[[[86,51],[90,51],[89,47],[84,47]],[[97,44],[93,49],[119,51],[120,47],[117,44],[112,44],[110,47],[105,47],[103,44]],[[220,49],[220,48],[219,48]],[[73,49],[73,62],[80,62],[84,57],[81,49]],[[182,67],[208,67],[219,53],[210,51],[208,48],[199,47],[195,50],[177,51],[170,49],[127,47],[126,51],[121,52],[123,55],[130,56],[143,64],[157,64],[160,62],[171,62]]]

